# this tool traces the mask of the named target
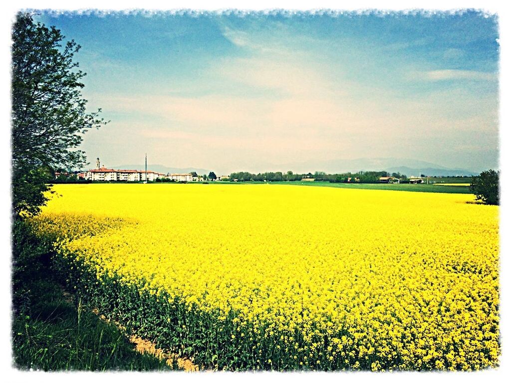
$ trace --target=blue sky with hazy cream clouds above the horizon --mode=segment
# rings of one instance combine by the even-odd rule
[[[477,12],[52,14],[111,123],[92,164],[217,173],[413,158],[498,165],[498,24]],[[285,165],[284,165],[285,164]],[[282,166],[291,166],[283,169]],[[311,169],[311,171],[322,169]]]

